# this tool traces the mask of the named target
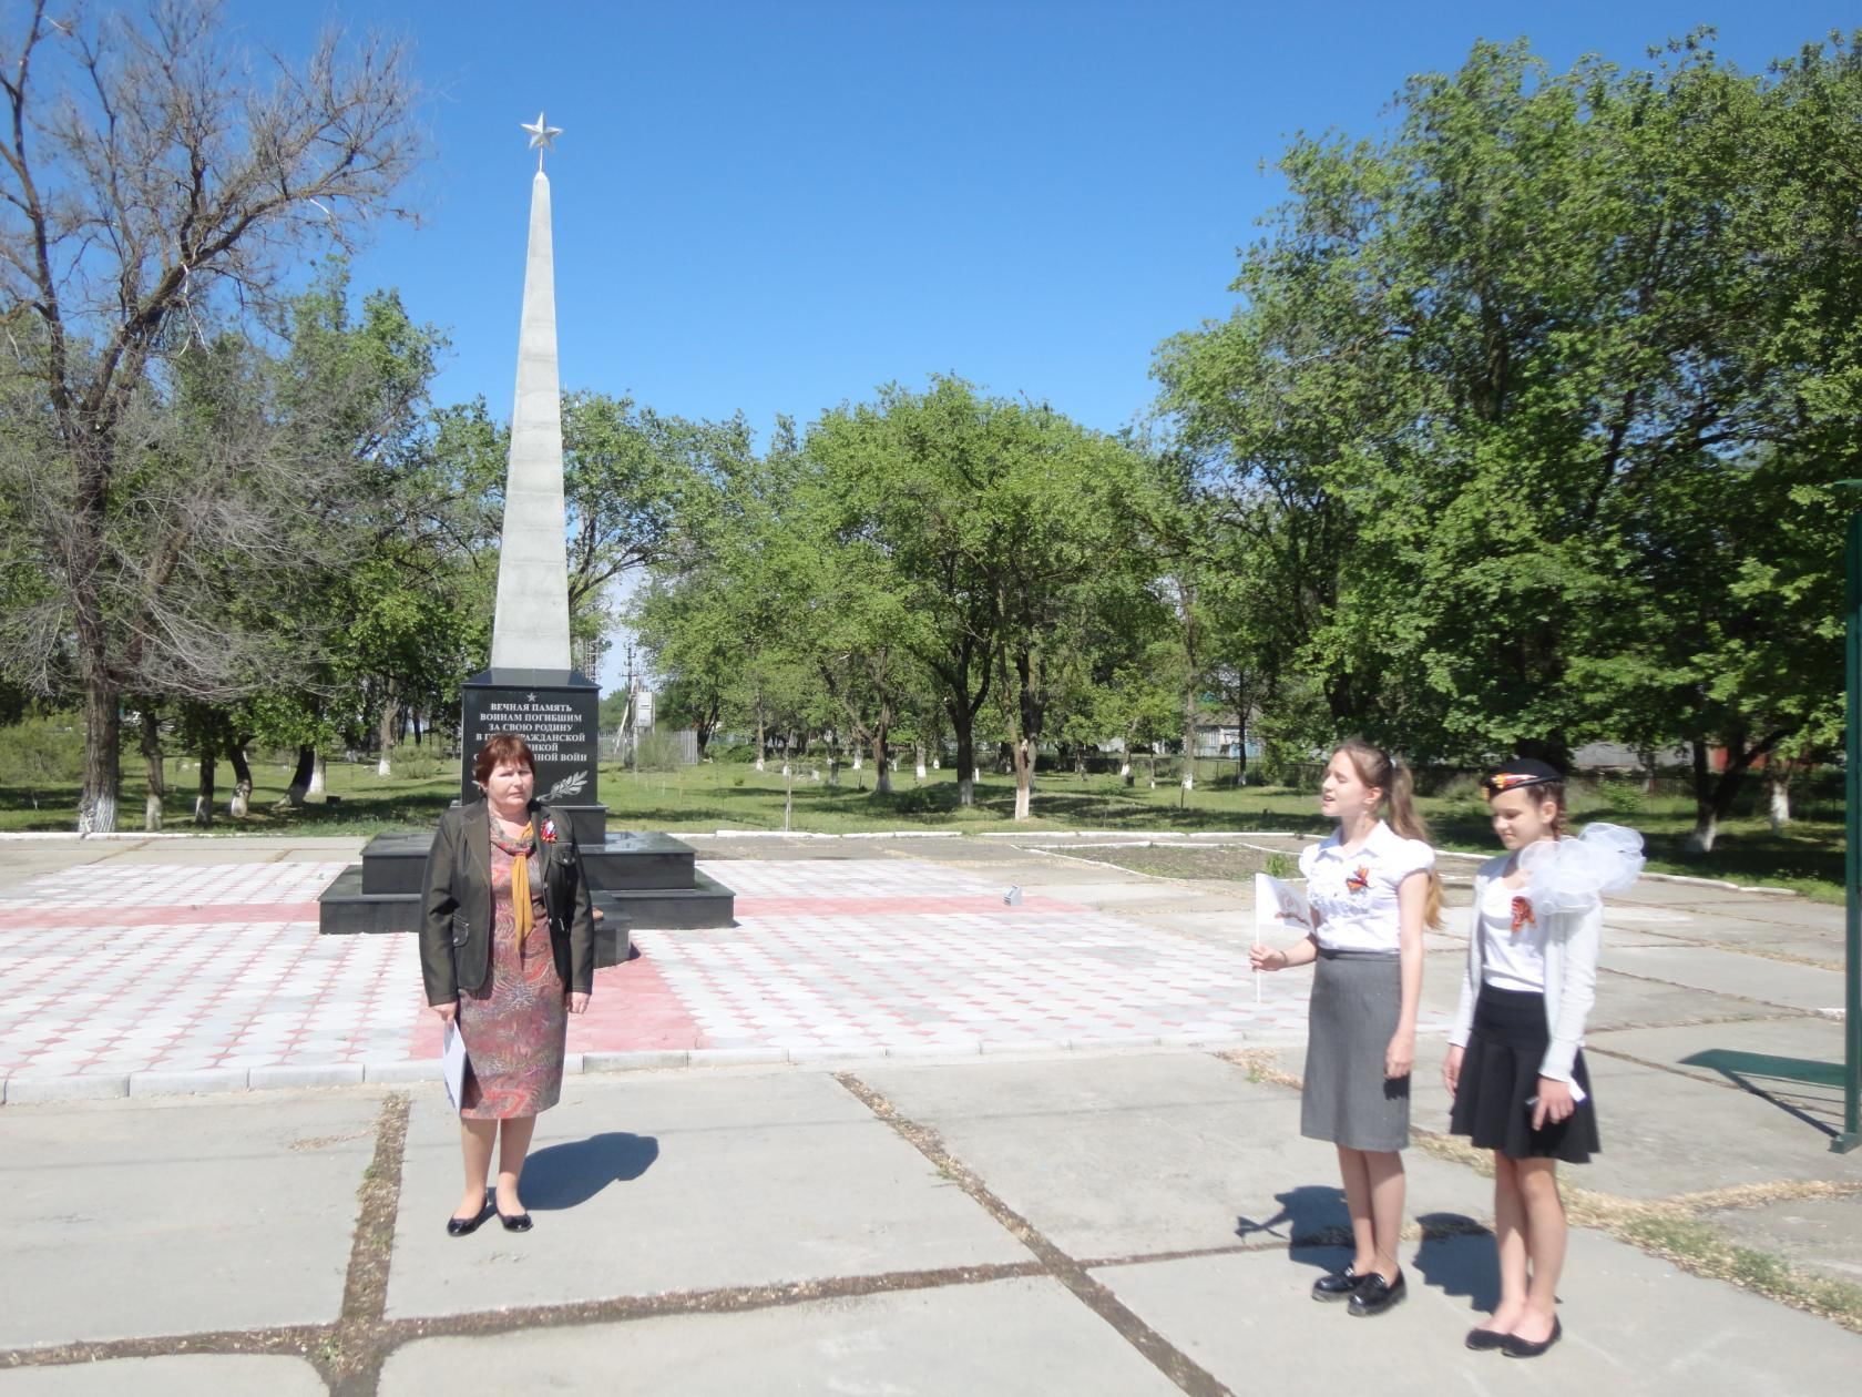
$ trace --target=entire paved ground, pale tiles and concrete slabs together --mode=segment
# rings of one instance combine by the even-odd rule
[[[412,939],[305,922],[348,849],[0,844],[0,1397],[1223,1397],[1369,1373],[1795,1397],[1862,1365],[1862,1336],[1752,1289],[1862,1324],[1862,1155],[1827,1149],[1840,909],[1672,883],[1611,905],[1605,1149],[1566,1172],[1588,1224],[1566,1339],[1521,1365],[1460,1343],[1497,1278],[1490,1185],[1436,1134],[1439,1036],[1410,1302],[1305,1298],[1344,1211],[1298,1134],[1307,980],[1253,1006],[1246,888],[983,840],[702,851],[741,924],[642,933],[603,972],[609,1017],[581,1023],[525,1172],[536,1231],[454,1241],[456,1125],[406,1080],[430,1073]],[[1462,946],[1430,937],[1432,1026]],[[222,1090],[162,1093],[190,1071]],[[223,1090],[289,1073],[352,1084]]]

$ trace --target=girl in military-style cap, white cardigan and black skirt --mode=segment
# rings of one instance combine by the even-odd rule
[[[1501,1302],[1469,1349],[1536,1358],[1564,1326],[1558,1160],[1598,1151],[1581,1051],[1596,1000],[1601,892],[1635,881],[1642,840],[1614,825],[1564,838],[1564,773],[1518,758],[1482,782],[1508,853],[1480,866],[1467,974],[1441,1077],[1449,1129],[1493,1151],[1493,1237]]]

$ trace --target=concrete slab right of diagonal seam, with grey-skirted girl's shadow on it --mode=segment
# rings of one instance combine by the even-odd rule
[[[860,1080],[1082,1259],[1348,1227],[1337,1151],[1300,1101],[1203,1054],[873,1067]],[[1486,1187],[1417,1151],[1410,1214],[1471,1213]]]

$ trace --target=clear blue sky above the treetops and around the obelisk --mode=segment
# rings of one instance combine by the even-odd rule
[[[408,35],[432,91],[419,231],[358,289],[447,328],[441,400],[506,417],[534,156],[549,158],[562,382],[663,412],[808,421],[953,371],[1117,428],[1164,337],[1225,315],[1235,250],[1294,130],[1370,132],[1477,37],[1635,63],[1713,22],[1743,67],[1853,4],[1145,0],[233,0],[296,48],[318,22]]]

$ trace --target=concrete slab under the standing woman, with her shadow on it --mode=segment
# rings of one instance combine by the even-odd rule
[[[1030,1259],[819,1071],[570,1078],[536,1125],[521,1235],[445,1235],[456,1119],[439,1092],[415,1103],[391,1317]]]

